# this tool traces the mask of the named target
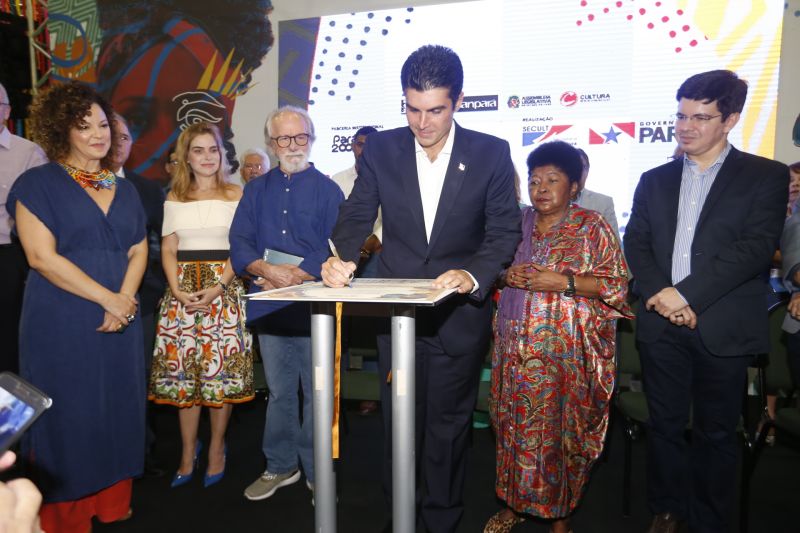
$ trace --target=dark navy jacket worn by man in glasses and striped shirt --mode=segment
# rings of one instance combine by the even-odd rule
[[[625,228],[625,257],[642,299],[637,338],[655,341],[669,321],[644,303],[672,286],[672,250],[683,160],[642,174]],[[695,228],[691,274],[675,287],[697,314],[697,328],[715,355],[769,351],[767,272],[786,217],[786,165],[732,148]]]

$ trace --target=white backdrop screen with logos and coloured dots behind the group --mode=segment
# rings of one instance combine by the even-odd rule
[[[639,176],[673,152],[675,93],[692,74],[730,69],[748,81],[730,140],[772,157],[782,18],[783,3],[769,1],[483,0],[288,21],[281,71],[304,76],[282,75],[281,93],[307,95],[312,160],[332,175],[352,165],[359,127],[405,125],[406,57],[449,46],[464,65],[456,121],[509,142],[522,200],[528,154],[564,140],[588,153],[587,188],[614,197],[622,229]],[[301,22],[315,38],[285,45]]]

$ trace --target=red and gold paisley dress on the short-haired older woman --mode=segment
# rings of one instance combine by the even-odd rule
[[[565,517],[600,455],[614,389],[616,319],[630,318],[628,270],[611,227],[571,206],[545,234],[523,213],[514,264],[591,274],[600,298],[505,288],[495,319],[489,398],[496,492],[514,511]]]

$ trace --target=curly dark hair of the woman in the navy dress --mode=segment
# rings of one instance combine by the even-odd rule
[[[69,132],[89,114],[92,104],[97,104],[108,117],[111,131],[111,148],[100,160],[102,168],[113,166],[111,159],[116,150],[117,126],[111,118],[114,110],[90,86],[79,81],[52,85],[40,92],[29,108],[31,137],[47,154],[50,161],[64,162],[70,152]]]

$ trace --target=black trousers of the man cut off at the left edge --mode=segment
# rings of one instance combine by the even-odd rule
[[[0,372],[19,372],[19,317],[28,262],[18,243],[0,245]]]

